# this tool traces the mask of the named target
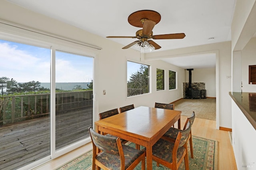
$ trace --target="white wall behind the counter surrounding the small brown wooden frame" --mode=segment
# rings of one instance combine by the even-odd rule
[[[256,85],[249,84],[249,65],[256,65],[256,38],[252,38],[242,50],[242,91],[256,92]]]

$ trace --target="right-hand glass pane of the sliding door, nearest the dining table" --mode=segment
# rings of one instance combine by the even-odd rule
[[[56,51],[56,150],[89,137],[93,58]]]

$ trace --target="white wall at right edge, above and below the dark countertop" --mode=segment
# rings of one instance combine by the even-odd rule
[[[232,72],[236,72],[236,65],[239,61],[241,66],[238,66],[241,74],[237,79],[233,79],[234,89],[240,85],[242,80],[242,90],[246,92],[256,92],[255,85],[248,85],[248,65],[255,65],[255,38],[252,36],[256,32],[256,1],[255,0],[236,0],[236,8],[231,26],[232,35]],[[241,59],[240,59],[241,58]],[[233,74],[234,76],[234,74]],[[232,100],[232,99],[230,99]],[[248,119],[238,108],[236,103],[232,101],[232,139],[233,150],[236,158],[238,170],[256,169],[255,165],[255,143],[256,130],[252,127]],[[246,168],[244,165],[253,167]]]

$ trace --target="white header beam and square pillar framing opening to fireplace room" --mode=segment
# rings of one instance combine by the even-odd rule
[[[216,83],[218,84],[216,93],[216,127],[232,128],[231,121],[231,101],[228,92],[231,91],[231,79],[226,76],[231,75],[231,42],[212,43],[147,53],[146,60],[163,59],[165,57],[177,57],[185,55],[195,55],[202,53],[216,53]]]

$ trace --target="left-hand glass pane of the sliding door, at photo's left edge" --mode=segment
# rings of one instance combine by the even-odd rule
[[[0,169],[50,155],[50,49],[0,40]]]

